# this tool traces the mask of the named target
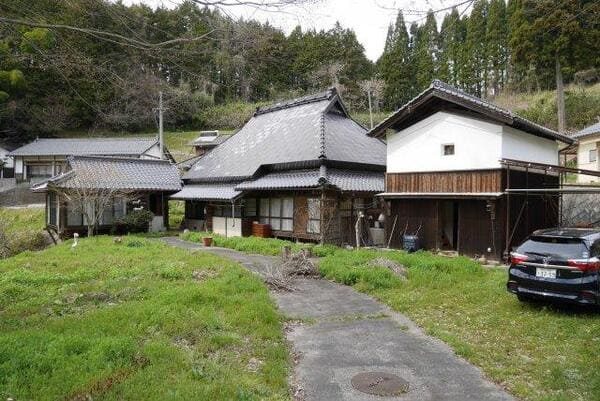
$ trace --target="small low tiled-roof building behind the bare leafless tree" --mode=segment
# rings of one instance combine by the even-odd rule
[[[88,216],[98,208],[98,232],[110,231],[116,219],[140,208],[154,215],[151,231],[168,228],[168,197],[181,190],[179,171],[170,161],[70,156],[65,163],[62,173],[32,188],[46,195],[48,229],[59,235],[85,232],[83,207]]]

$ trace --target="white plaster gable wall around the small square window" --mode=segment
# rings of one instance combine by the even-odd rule
[[[454,144],[453,156],[443,145]],[[387,136],[390,173],[500,168],[502,126],[446,112]]]

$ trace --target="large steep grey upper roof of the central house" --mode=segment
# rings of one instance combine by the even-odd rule
[[[337,91],[260,108],[226,142],[199,159],[184,179],[234,181],[263,166],[314,167],[323,161],[385,168],[385,144],[350,119]]]

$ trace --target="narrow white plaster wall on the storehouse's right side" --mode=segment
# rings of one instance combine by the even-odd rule
[[[558,142],[502,127],[502,158],[534,163],[558,164]]]

